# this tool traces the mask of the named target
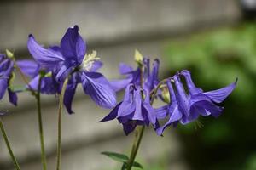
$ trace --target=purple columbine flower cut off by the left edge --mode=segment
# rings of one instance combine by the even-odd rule
[[[0,54],[0,100],[3,99],[3,96],[8,91],[9,102],[17,105],[17,95],[12,91],[11,81],[14,77],[14,61],[9,59],[6,55]]]

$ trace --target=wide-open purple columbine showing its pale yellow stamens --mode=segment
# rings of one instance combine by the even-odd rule
[[[79,35],[79,27],[68,28],[61,39],[61,46],[43,48],[29,36],[27,47],[30,54],[44,69],[53,71],[57,82],[70,77],[64,96],[64,105],[73,113],[71,105],[78,83],[82,83],[84,93],[90,95],[97,105],[113,108],[116,105],[115,92],[108,80],[99,72],[102,66],[96,52],[86,54],[86,45]]]

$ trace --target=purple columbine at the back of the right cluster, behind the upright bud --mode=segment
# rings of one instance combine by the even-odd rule
[[[151,91],[153,88],[157,86],[159,83],[158,71],[159,71],[159,59],[154,59],[153,69],[150,72],[150,59],[143,58],[143,88]],[[141,69],[140,66],[137,67],[136,70],[130,65],[126,65],[121,63],[119,65],[119,72],[121,75],[126,75],[125,79],[112,81],[111,85],[113,89],[117,92],[127,87],[128,84],[133,83],[136,86],[140,86],[140,78],[141,78]]]

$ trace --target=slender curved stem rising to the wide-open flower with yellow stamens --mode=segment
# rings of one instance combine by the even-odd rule
[[[57,167],[56,170],[61,169],[61,113],[63,108],[63,100],[64,94],[67,88],[68,77],[65,79],[62,89],[61,89],[61,96],[59,101],[59,111],[58,111],[58,146],[57,146]]]

